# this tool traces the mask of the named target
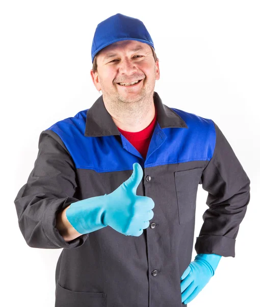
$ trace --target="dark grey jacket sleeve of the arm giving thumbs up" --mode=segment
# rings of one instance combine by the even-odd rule
[[[66,242],[56,228],[57,213],[79,201],[73,197],[76,187],[75,165],[61,138],[52,130],[42,131],[34,168],[14,201],[30,247],[72,249],[84,244],[89,234]]]

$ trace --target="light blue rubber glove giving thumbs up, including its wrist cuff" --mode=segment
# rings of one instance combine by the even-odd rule
[[[69,223],[82,234],[110,226],[122,234],[140,236],[154,208],[151,198],[136,195],[142,178],[142,167],[134,163],[132,176],[112,193],[70,204],[66,210]]]

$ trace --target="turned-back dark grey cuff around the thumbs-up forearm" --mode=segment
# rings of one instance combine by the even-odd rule
[[[42,218],[42,228],[43,231],[50,241],[50,246],[57,246],[57,248],[67,248],[67,249],[73,249],[77,247],[81,247],[86,239],[89,236],[89,233],[82,234],[81,236],[66,242],[63,238],[63,236],[60,234],[59,230],[56,228],[56,218],[57,214],[65,209],[69,204],[66,203],[68,198],[64,199],[62,203],[61,199],[54,200],[47,210],[44,211],[43,218]],[[60,204],[57,204],[60,203]]]

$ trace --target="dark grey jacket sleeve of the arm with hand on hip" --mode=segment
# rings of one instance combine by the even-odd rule
[[[214,123],[213,157],[202,172],[208,193],[203,224],[196,238],[197,254],[235,257],[235,243],[250,200],[250,180],[219,127]]]

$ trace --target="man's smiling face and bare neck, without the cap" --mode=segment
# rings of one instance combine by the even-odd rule
[[[152,47],[137,40],[114,42],[99,51],[92,80],[116,125],[136,132],[155,115],[153,92],[160,78],[159,60]]]

